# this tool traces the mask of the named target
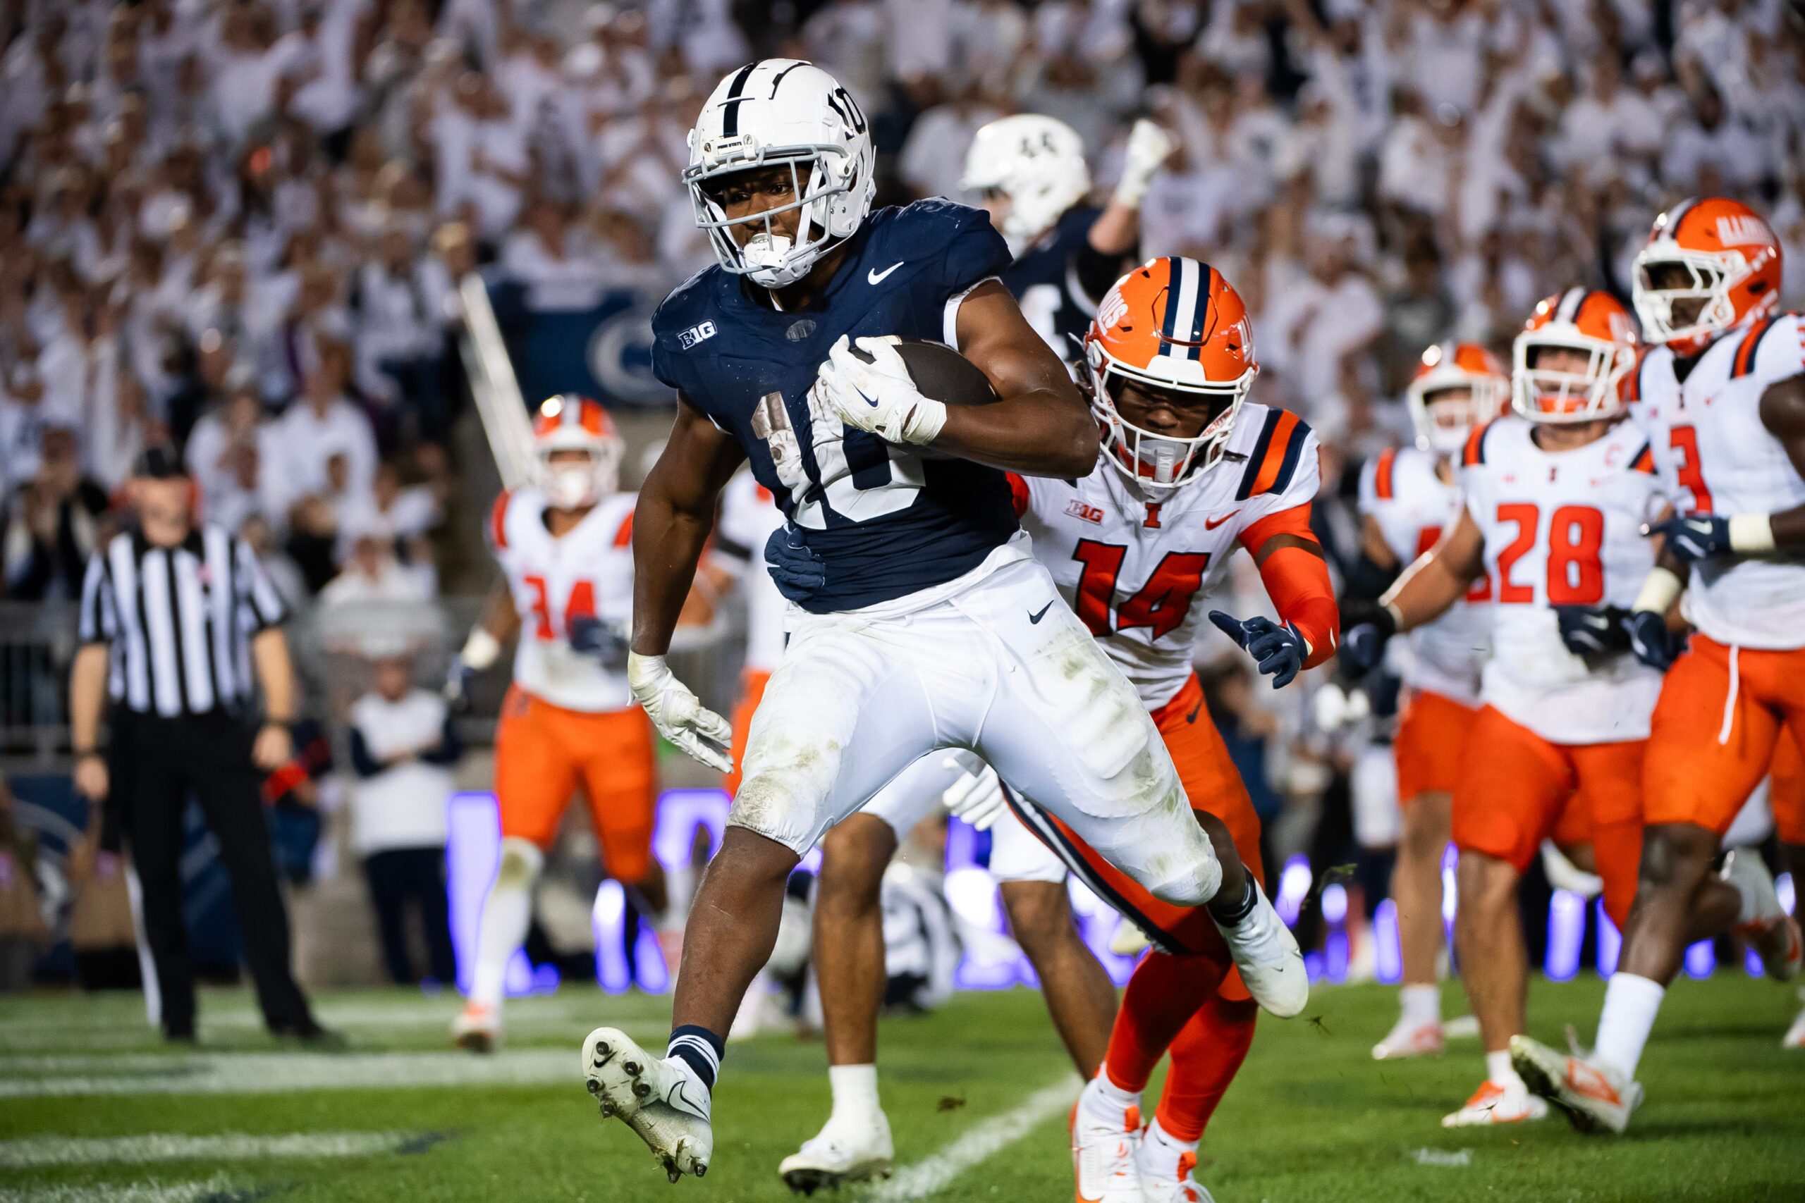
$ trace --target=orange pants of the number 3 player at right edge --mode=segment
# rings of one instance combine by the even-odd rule
[[[1791,730],[1792,750],[1780,732]],[[1722,835],[1774,770],[1774,826],[1805,837],[1798,745],[1805,743],[1805,647],[1727,647],[1706,635],[1668,669],[1648,745],[1650,826],[1689,822]]]

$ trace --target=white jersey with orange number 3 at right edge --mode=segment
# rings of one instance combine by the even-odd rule
[[[1686,514],[1774,514],[1805,505],[1805,480],[1762,426],[1762,393],[1805,372],[1805,321],[1780,314],[1726,332],[1684,379],[1666,346],[1643,355],[1634,417],[1648,431],[1655,467]],[[1686,617],[1720,644],[1805,646],[1805,557],[1695,563]]]

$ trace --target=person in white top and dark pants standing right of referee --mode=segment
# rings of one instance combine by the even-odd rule
[[[363,857],[390,981],[421,976],[408,954],[408,911],[426,936],[426,976],[453,985],[446,918],[446,804],[460,745],[451,711],[437,693],[413,685],[413,660],[375,660],[374,689],[350,707],[352,848]]]

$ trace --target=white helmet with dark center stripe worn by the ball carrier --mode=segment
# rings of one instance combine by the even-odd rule
[[[708,180],[771,164],[789,164],[796,200],[787,206],[729,218],[708,195]],[[682,179],[720,265],[782,289],[859,229],[877,191],[875,164],[865,112],[839,81],[814,63],[767,58],[715,87],[690,130]],[[791,209],[801,209],[794,242],[771,229],[771,218]],[[756,231],[744,247],[735,225]]]

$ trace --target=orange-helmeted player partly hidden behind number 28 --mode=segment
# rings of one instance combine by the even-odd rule
[[[1361,471],[1361,550],[1370,561],[1395,574],[1455,527],[1460,451],[1509,397],[1511,377],[1484,346],[1442,343],[1422,352],[1404,393],[1417,445],[1383,451]],[[1442,990],[1435,979],[1442,950],[1442,851],[1489,644],[1491,577],[1482,575],[1448,613],[1410,633],[1410,655],[1402,658],[1406,694],[1392,754],[1404,830],[1392,898],[1404,978],[1397,1023],[1372,1050],[1379,1061],[1442,1051]]]

